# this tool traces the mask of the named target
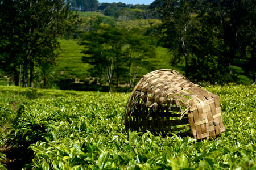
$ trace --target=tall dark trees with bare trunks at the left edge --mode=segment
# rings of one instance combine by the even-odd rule
[[[59,47],[57,36],[72,30],[71,20],[75,15],[68,4],[64,0],[1,1],[1,65],[13,66],[11,73],[16,77],[15,70],[22,64],[23,87],[28,86],[28,69],[33,86],[34,66],[42,60],[54,63],[57,57],[54,51]]]

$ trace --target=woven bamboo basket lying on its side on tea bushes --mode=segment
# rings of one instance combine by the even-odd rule
[[[175,70],[144,75],[127,102],[126,129],[216,138],[225,131],[219,97]]]

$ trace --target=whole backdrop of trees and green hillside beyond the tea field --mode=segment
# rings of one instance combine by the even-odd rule
[[[0,0],[0,84],[129,91],[155,69],[253,84],[255,16],[253,0]]]

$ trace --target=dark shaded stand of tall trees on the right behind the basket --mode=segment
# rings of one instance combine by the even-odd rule
[[[212,84],[255,81],[253,1],[172,0],[157,4],[163,22],[162,44],[173,54],[172,65],[185,62],[189,79]]]

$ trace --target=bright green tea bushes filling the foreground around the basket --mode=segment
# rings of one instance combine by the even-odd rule
[[[226,127],[209,141],[125,131],[129,94],[0,87],[2,169],[256,168],[255,86],[205,87],[220,96]],[[26,159],[11,164],[11,151]]]

